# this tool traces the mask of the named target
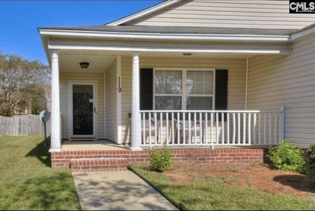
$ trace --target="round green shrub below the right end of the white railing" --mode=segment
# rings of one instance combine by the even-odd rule
[[[293,145],[292,140],[282,140],[279,146],[270,147],[267,157],[280,170],[301,171],[305,163],[302,149]]]

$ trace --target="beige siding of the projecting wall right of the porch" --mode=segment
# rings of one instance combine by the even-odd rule
[[[249,109],[285,106],[285,137],[300,147],[315,141],[315,36],[292,43],[290,56],[250,59]]]

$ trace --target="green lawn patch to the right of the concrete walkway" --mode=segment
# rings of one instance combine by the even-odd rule
[[[315,210],[315,198],[298,198],[228,187],[220,178],[189,173],[192,181],[174,182],[169,175],[147,171],[145,166],[133,169],[176,203],[182,202],[189,210]]]

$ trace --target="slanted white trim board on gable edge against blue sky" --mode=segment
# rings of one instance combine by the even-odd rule
[[[147,9],[136,12],[134,14],[128,15],[124,18],[120,18],[116,21],[105,24],[105,26],[118,26],[121,24],[125,24],[127,22],[134,21],[138,18],[142,18],[144,16],[150,15],[154,12],[157,12],[158,10],[164,9],[168,6],[174,5],[174,4],[179,3],[179,2],[181,2],[181,0],[167,0],[167,1],[161,2],[159,4],[153,5]]]

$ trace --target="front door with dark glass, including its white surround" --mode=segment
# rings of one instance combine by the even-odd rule
[[[70,82],[70,137],[96,138],[96,83]]]

